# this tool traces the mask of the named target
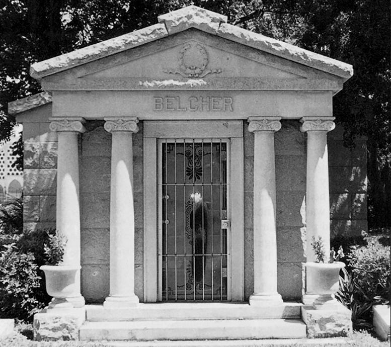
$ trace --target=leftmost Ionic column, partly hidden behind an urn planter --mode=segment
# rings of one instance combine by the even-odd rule
[[[77,136],[85,132],[83,118],[50,118],[51,131],[57,132],[57,205],[56,227],[65,236],[63,264],[80,266],[79,147]],[[74,297],[66,298],[74,307],[85,304],[80,294],[80,270],[76,273]]]

